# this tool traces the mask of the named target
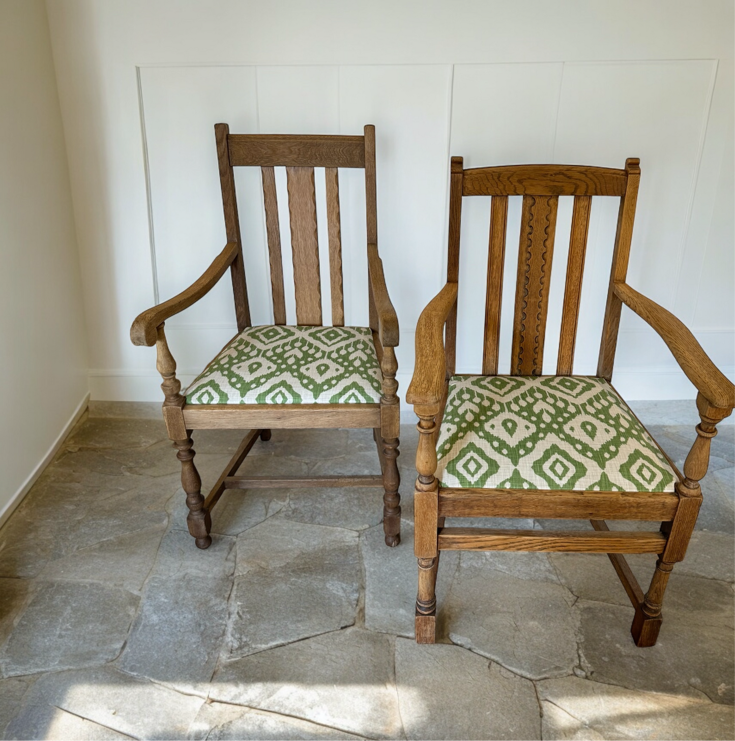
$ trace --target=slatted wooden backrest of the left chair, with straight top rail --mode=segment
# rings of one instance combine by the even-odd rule
[[[291,250],[294,261],[296,322],[299,325],[321,325],[323,323],[314,167],[324,167],[332,325],[343,326],[340,189],[337,168],[360,167],[365,170],[367,241],[368,244],[378,243],[375,127],[368,125],[364,132],[364,136],[231,134],[227,124],[215,125],[214,133],[217,137],[217,156],[220,161],[220,182],[227,239],[228,242],[237,242],[240,245],[239,259],[232,264],[235,310],[240,330],[250,325],[250,313],[245,287],[233,167],[260,167],[263,175],[263,202],[266,208],[266,233],[271,264],[271,295],[274,321],[277,325],[286,324],[286,299],[283,287],[274,167],[286,167]],[[372,295],[370,299],[372,302]],[[372,305],[370,313],[371,316],[374,313]]]

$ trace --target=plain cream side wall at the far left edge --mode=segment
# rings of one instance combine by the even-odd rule
[[[42,0],[0,2],[0,101],[2,522],[84,410],[88,391],[79,255]]]

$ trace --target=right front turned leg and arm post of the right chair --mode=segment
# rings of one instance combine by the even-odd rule
[[[633,619],[631,633],[636,645],[640,647],[655,645],[659,636],[661,608],[669,575],[673,565],[684,559],[702,504],[699,482],[707,473],[711,440],[717,434],[717,423],[732,411],[713,407],[701,393],[696,397],[696,406],[702,421],[696,425],[696,440],[684,463],[684,480],[676,483],[679,507],[676,508],[670,528],[668,523],[665,525],[668,530],[666,548],[656,560],[656,571],[653,572],[643,604]]]

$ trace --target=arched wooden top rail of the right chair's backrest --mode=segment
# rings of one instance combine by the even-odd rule
[[[512,165],[464,170],[463,196],[622,196],[624,170],[582,165]]]

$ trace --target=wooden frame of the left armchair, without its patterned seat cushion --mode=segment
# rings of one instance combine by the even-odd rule
[[[168,437],[174,441],[182,465],[182,488],[188,505],[187,523],[198,548],[211,545],[211,511],[226,489],[274,487],[383,488],[383,530],[386,545],[401,541],[401,497],[398,488],[400,407],[395,380],[398,362],[398,318],[392,306],[378,255],[375,187],[375,127],[364,136],[231,135],[227,124],[215,127],[220,183],[228,243],[202,276],[174,298],[143,311],[131,327],[134,345],[156,346],[156,368],[161,374],[162,405]],[[237,216],[233,167],[258,166],[263,173],[263,196],[271,262],[274,324],[286,324],[274,167],[286,167],[289,176],[289,213],[294,253],[294,288],[299,325],[322,325],[319,258],[314,202],[314,167],[326,168],[329,267],[332,324],[344,325],[338,167],[365,170],[369,316],[372,341],[381,373],[379,403],[345,404],[187,404],[176,376],[176,362],[165,336],[165,322],[205,296],[229,269],[234,293],[238,334],[251,326],[243,249]],[[237,335],[236,335],[237,336]],[[229,344],[229,343],[228,343]],[[378,449],[380,474],[363,476],[237,476],[237,470],[257,440],[267,442],[271,429],[372,428]],[[241,429],[240,446],[208,496],[194,465],[194,430]]]

